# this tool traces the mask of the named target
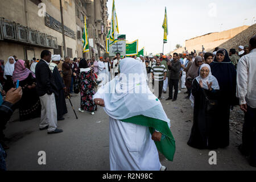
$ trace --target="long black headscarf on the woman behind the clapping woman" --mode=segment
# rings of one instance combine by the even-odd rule
[[[231,63],[228,51],[226,51],[226,49],[218,49],[217,53],[222,53],[225,55],[224,60],[222,62],[218,62],[215,56],[214,61],[210,63],[210,69],[212,69],[212,75],[217,78],[218,85],[220,85],[221,100],[230,105],[237,104],[236,68]]]

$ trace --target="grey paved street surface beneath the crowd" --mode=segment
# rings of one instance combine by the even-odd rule
[[[183,90],[184,92],[184,90]],[[167,98],[167,94],[163,94]],[[160,154],[161,163],[168,170],[255,170],[237,150],[241,136],[230,133],[230,146],[217,150],[217,165],[209,165],[209,150],[196,150],[187,145],[192,126],[190,101],[178,95],[176,102],[162,100],[164,110],[171,119],[171,131],[176,140],[174,162]],[[39,131],[40,119],[19,122],[15,111],[5,130],[8,170],[109,170],[109,118],[101,107],[95,115],[79,113],[80,95],[71,99],[79,119],[66,100],[68,114],[58,125],[64,132],[48,135]],[[190,120],[190,121],[189,121]],[[217,135],[217,134],[216,134]],[[46,165],[38,164],[38,152],[46,152]],[[150,160],[150,159],[148,159]]]

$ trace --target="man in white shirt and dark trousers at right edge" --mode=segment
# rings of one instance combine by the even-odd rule
[[[249,50],[237,65],[237,97],[245,112],[239,149],[243,155],[250,156],[250,166],[256,167],[256,35],[250,39]]]

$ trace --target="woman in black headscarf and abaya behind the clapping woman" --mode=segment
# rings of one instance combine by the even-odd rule
[[[236,105],[236,78],[237,71],[231,63],[228,51],[219,49],[210,64],[212,75],[217,78],[220,85],[220,97],[218,98],[218,123],[219,130],[216,137],[220,141],[219,147],[229,146],[229,114],[230,106]]]

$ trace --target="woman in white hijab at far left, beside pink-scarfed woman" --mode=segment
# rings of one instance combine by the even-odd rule
[[[3,86],[5,92],[10,90],[14,86],[12,77],[15,63],[16,61],[14,57],[9,57],[7,63],[5,64],[5,72],[3,73],[3,77],[6,79],[5,85]]]

